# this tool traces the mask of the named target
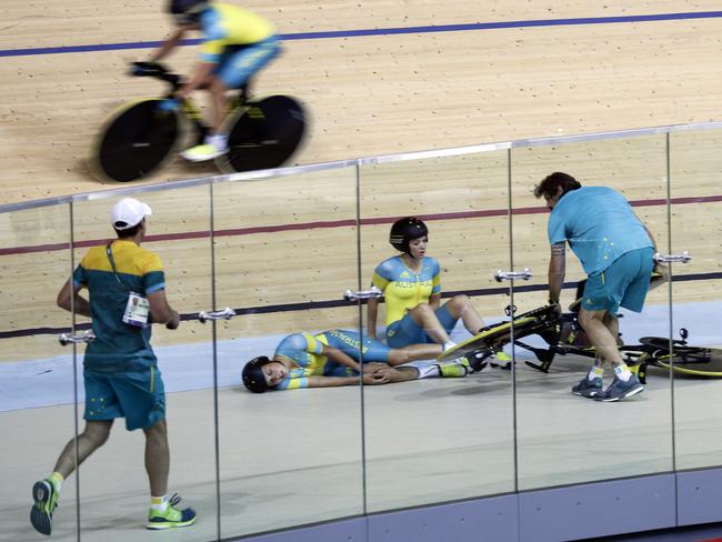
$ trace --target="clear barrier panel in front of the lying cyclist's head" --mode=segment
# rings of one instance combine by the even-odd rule
[[[215,304],[238,313],[218,335],[224,539],[363,513],[358,385],[251,393],[241,381],[255,357],[302,355],[274,358],[284,340],[358,330],[343,302],[359,282],[355,185],[342,168],[213,187]]]

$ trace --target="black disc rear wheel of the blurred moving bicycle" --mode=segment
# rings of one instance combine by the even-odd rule
[[[278,168],[298,149],[305,132],[301,104],[271,96],[239,110],[229,121],[228,153],[218,158],[225,173]]]

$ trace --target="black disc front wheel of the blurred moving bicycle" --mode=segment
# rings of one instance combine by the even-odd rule
[[[117,111],[100,131],[90,169],[104,181],[137,181],[153,172],[180,140],[182,117],[159,112],[161,99],[131,102]]]

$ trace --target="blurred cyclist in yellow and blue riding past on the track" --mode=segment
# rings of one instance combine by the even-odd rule
[[[176,20],[177,28],[152,54],[151,62],[167,57],[190,30],[200,30],[203,42],[193,74],[176,92],[176,99],[167,100],[162,108],[178,108],[179,102],[197,89],[210,92],[210,131],[202,144],[183,151],[181,155],[193,162],[212,160],[228,150],[227,134],[221,132],[228,113],[227,91],[240,89],[277,57],[281,49],[279,39],[269,21],[228,3],[169,0],[168,12]]]

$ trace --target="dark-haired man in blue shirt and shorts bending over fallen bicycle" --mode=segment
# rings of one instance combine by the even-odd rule
[[[624,197],[606,187],[585,187],[566,173],[552,173],[534,189],[551,210],[549,302],[559,303],[564,283],[564,243],[588,274],[579,321],[596,351],[594,365],[572,393],[598,401],[620,401],[643,391],[619,353],[620,307],[642,312],[654,268],[654,238]],[[614,381],[602,391],[602,364],[614,368]]]

